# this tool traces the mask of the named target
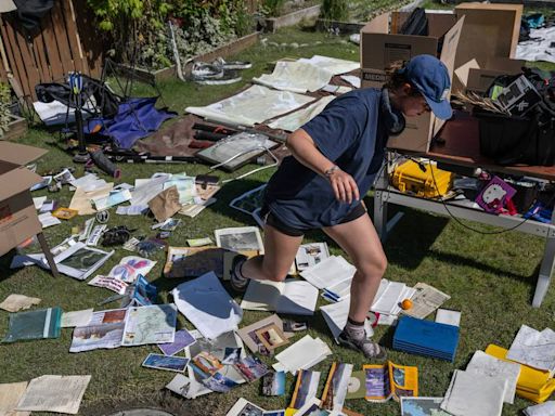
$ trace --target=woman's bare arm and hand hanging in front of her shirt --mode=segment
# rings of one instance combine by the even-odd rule
[[[359,200],[359,187],[354,179],[326,158],[305,130],[298,129],[289,134],[286,145],[299,162],[330,180],[338,200],[349,204],[352,199]]]

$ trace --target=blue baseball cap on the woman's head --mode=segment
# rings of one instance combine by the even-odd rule
[[[451,118],[453,109],[448,99],[451,80],[446,64],[433,55],[417,55],[400,73],[424,95],[436,117],[442,120]]]

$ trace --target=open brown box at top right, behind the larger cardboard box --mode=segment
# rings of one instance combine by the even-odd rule
[[[465,17],[455,68],[472,58],[483,68],[492,56],[515,56],[522,4],[461,3],[455,15]]]

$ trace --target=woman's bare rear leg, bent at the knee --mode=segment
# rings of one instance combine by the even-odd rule
[[[242,266],[245,277],[257,281],[284,281],[302,242],[271,225],[264,226],[264,255],[247,260]]]

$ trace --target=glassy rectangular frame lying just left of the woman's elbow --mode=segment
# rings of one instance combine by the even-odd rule
[[[201,150],[195,156],[212,165],[220,165],[221,169],[232,172],[266,150],[278,145],[278,142],[270,140],[266,134],[243,131],[221,139],[210,147]]]

